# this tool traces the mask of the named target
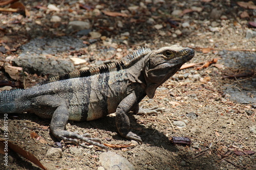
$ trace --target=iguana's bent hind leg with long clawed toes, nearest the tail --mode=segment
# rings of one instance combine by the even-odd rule
[[[107,150],[107,147],[105,147],[103,144],[100,144],[99,139],[85,137],[88,135],[78,135],[75,132],[69,132],[65,130],[69,119],[69,111],[68,104],[64,99],[53,95],[42,95],[34,99],[34,105],[37,107],[35,112],[39,116],[40,114],[44,114],[44,108],[47,108],[48,110],[55,109],[52,115],[50,130],[56,138],[72,141],[75,143],[78,143],[76,139],[80,139]]]

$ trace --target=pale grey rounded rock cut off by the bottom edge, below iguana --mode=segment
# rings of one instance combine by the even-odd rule
[[[129,170],[135,169],[134,166],[127,161],[125,158],[121,157],[120,155],[114,152],[104,152],[99,155],[99,163],[106,169],[106,170]]]

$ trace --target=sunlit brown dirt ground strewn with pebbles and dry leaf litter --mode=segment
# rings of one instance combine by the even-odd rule
[[[78,57],[88,61],[86,67],[97,65],[99,60],[118,61],[138,46],[147,46],[152,50],[171,44],[189,46],[196,51],[189,63],[214,58],[219,60],[198,70],[196,68],[200,65],[178,71],[157,89],[154,99],[145,98],[140,103],[144,108],[158,106],[162,112],[129,115],[132,131],[141,136],[143,143],[109,150],[127,159],[135,169],[256,169],[256,154],[253,154],[256,150],[256,38],[246,38],[248,30],[256,31],[249,24],[256,19],[255,9],[243,8],[237,1],[146,0],[132,1],[131,4],[129,1],[89,0],[23,3],[29,15],[0,13],[1,80],[27,88],[47,77],[19,71],[15,81],[5,69],[6,65],[13,65],[11,59],[23,53],[20,46],[36,37],[72,36],[82,39],[86,47],[52,53],[47,57]],[[49,4],[54,4],[59,11],[50,10]],[[252,4],[250,7],[254,8]],[[109,16],[104,11],[118,13]],[[61,17],[61,21],[53,22],[53,15]],[[72,20],[88,20],[90,30],[101,36],[78,36],[77,31],[68,31],[68,23]],[[102,49],[110,47],[114,49],[114,55],[102,53]],[[239,53],[238,58],[234,58],[234,52]],[[92,57],[94,59],[89,60]],[[250,62],[243,64],[239,57]],[[81,67],[75,65],[75,69]],[[229,79],[234,74],[241,75],[248,70],[252,74]],[[225,76],[227,78],[223,78]],[[239,95],[245,98],[244,102],[236,100]],[[86,123],[69,122],[67,130],[79,134],[90,133],[103,143],[131,143],[118,134],[114,116]],[[3,115],[0,118],[2,127]],[[9,114],[8,118],[9,140],[33,154],[48,169],[100,169],[99,155],[104,150],[89,144],[79,145],[83,153],[74,155],[71,149],[76,145],[67,142],[61,149],[61,158],[46,158],[47,151],[56,147],[49,133],[50,120],[28,113]],[[179,120],[185,127],[177,124]],[[32,134],[36,134],[36,137]],[[174,136],[187,137],[191,144],[172,143]],[[247,154],[247,151],[251,154]],[[10,152],[8,167],[4,166],[2,159],[1,156],[0,166],[3,168],[40,169],[14,152]]]

